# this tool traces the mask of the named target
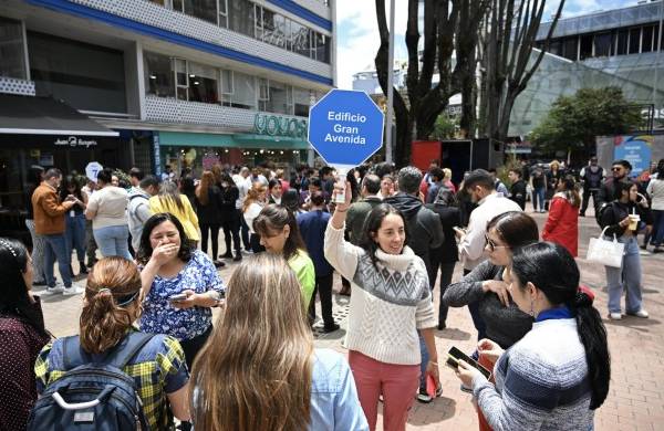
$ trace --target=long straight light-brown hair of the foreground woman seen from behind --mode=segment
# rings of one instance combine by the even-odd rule
[[[259,253],[236,269],[194,361],[197,430],[298,431],[310,421],[313,338],[295,274]]]

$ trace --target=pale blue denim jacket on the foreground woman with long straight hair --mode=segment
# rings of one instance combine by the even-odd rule
[[[345,358],[331,349],[314,350],[311,376],[311,431],[369,430]]]

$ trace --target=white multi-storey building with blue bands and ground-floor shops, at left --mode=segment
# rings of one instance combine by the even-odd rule
[[[31,165],[307,160],[309,107],[335,85],[334,15],[332,0],[2,1],[0,103],[62,102],[108,133],[18,129],[0,111],[0,192],[22,190]]]

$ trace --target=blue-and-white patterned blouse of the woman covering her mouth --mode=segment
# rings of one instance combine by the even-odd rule
[[[204,334],[212,324],[212,312],[208,307],[178,309],[168,298],[190,288],[196,293],[224,292],[225,286],[211,259],[196,250],[191,260],[173,278],[155,276],[149,294],[143,302],[141,330],[166,334],[178,340],[191,339]]]

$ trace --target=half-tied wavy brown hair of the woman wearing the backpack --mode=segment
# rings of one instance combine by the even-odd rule
[[[87,276],[81,312],[81,347],[101,354],[122,340],[138,317],[141,273],[120,256],[98,261]]]

